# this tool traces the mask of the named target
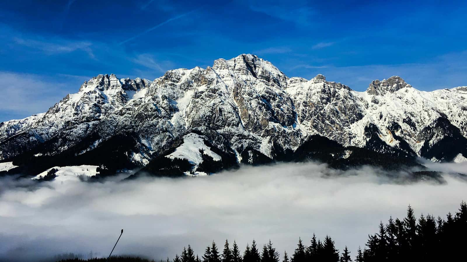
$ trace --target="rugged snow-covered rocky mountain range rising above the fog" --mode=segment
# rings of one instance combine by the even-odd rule
[[[152,82],[99,75],[46,113],[0,123],[0,162],[30,175],[73,165],[202,174],[306,159],[397,168],[417,157],[467,157],[467,87],[426,92],[391,76],[357,92],[323,75],[289,78],[256,55]]]

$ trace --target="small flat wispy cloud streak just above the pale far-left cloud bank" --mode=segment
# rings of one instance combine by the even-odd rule
[[[51,42],[51,41],[40,41],[40,40],[33,40],[33,39],[23,39],[19,37],[13,38],[13,41],[18,45],[41,50],[47,55],[70,53],[76,50],[83,50],[91,58],[95,58],[94,54],[92,53],[92,49],[91,49],[92,43],[90,41],[57,40],[56,42]]]

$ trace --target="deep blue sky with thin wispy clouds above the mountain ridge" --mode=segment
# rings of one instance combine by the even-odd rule
[[[7,1],[0,121],[46,111],[98,74],[153,80],[242,53],[359,91],[393,75],[420,90],[467,85],[467,3],[389,2]]]

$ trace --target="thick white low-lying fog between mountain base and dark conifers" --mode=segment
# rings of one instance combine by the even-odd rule
[[[443,171],[467,171],[464,164],[431,164]],[[392,174],[394,175],[394,174]],[[467,183],[444,175],[446,183],[404,182],[406,174],[365,167],[347,172],[324,164],[242,167],[209,177],[141,178],[86,183],[78,179],[31,183],[0,179],[0,260],[36,261],[73,252],[173,258],[191,244],[199,254],[216,241],[236,240],[241,251],[255,239],[271,239],[283,254],[298,237],[329,234],[352,257],[368,234],[389,216],[405,216],[410,204],[419,216],[455,212],[467,200]]]

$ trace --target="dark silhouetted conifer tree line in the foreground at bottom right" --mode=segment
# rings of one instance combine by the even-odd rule
[[[313,234],[309,245],[299,238],[290,256],[286,251],[279,255],[271,241],[259,248],[253,240],[241,252],[236,241],[231,248],[226,240],[222,251],[212,241],[199,257],[188,245],[181,255],[172,260],[167,258],[166,262],[392,262],[447,261],[457,257],[464,258],[454,261],[464,261],[466,247],[467,204],[462,201],[459,210],[447,214],[446,219],[430,214],[417,219],[409,205],[405,218],[390,217],[388,223],[380,222],[378,233],[368,235],[367,243],[355,255],[350,254],[347,246],[339,252],[330,236],[321,241]]]

